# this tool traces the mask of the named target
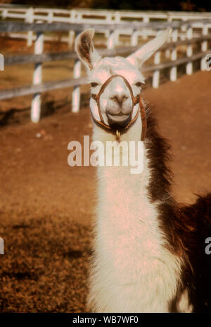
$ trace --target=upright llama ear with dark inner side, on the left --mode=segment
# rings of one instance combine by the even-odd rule
[[[75,51],[88,69],[93,69],[94,64],[101,59],[96,49],[94,49],[93,37],[94,30],[90,28],[80,33],[75,40]]]

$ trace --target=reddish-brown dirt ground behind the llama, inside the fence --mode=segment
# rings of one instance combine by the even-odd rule
[[[211,189],[210,85],[198,72],[143,91],[172,144],[183,203]],[[96,170],[69,167],[68,143],[91,136],[89,107],[66,104],[36,125],[25,115],[0,129],[0,311],[83,312]]]

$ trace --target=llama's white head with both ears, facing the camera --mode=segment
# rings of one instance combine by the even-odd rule
[[[120,128],[126,126],[130,119],[136,117],[139,111],[139,104],[132,102],[131,90],[127,81],[131,85],[133,96],[141,93],[141,85],[144,83],[144,77],[141,74],[141,65],[151,55],[165,43],[170,36],[170,30],[160,32],[150,42],[146,43],[139,50],[127,58],[123,57],[105,57],[101,58],[92,39],[94,30],[84,30],[77,36],[75,41],[75,50],[79,59],[87,66],[89,81],[91,83],[91,93],[98,95],[101,86],[110,78],[110,76],[120,75],[110,80],[99,97],[99,107],[101,117],[98,112],[96,99],[91,97],[90,108],[93,117],[98,121],[110,127]],[[126,78],[127,81],[124,80]]]

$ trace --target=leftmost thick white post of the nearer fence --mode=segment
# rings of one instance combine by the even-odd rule
[[[43,52],[44,34],[43,32],[37,32],[36,40],[34,43],[34,54],[41,54]],[[33,73],[33,85],[41,83],[41,70],[42,64],[37,63],[34,66]],[[40,106],[41,106],[41,94],[34,93],[32,98],[31,107],[31,120],[33,123],[37,123],[40,119]]]

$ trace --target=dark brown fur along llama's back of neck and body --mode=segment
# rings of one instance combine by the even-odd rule
[[[157,121],[147,107],[145,145],[148,150],[151,182],[148,196],[159,201],[160,227],[167,238],[167,247],[183,261],[182,284],[170,308],[175,311],[184,289],[193,304],[193,311],[211,311],[211,255],[205,254],[205,239],[211,237],[211,194],[199,196],[192,206],[177,203],[172,196],[170,145],[158,133]]]

